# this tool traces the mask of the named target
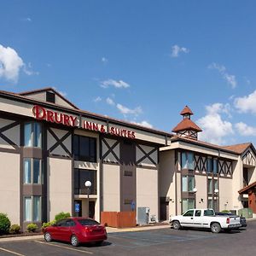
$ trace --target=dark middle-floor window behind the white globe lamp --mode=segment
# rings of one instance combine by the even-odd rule
[[[74,193],[75,195],[87,194],[84,183],[91,182],[90,195],[96,195],[96,171],[85,169],[74,169]]]

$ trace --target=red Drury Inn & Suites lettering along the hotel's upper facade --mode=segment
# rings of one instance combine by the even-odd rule
[[[80,124],[79,118],[77,116],[67,114],[67,113],[52,111],[38,105],[35,105],[32,108],[32,113],[35,119],[38,119],[38,120],[46,120],[47,122],[71,126],[71,127],[78,127],[78,128],[82,128],[84,130],[89,130],[89,131],[99,131],[102,133],[108,132],[111,135],[119,136],[119,137],[127,137],[131,139],[135,138],[134,131],[130,131],[124,128],[117,128],[117,127],[114,127],[113,125],[110,125],[107,128],[107,124],[105,125],[99,124],[99,123],[96,123],[95,121],[92,122],[84,118],[82,119]]]

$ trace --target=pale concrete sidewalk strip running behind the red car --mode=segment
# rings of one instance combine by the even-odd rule
[[[125,228],[125,229],[118,229],[112,227],[106,227],[107,233],[118,233],[118,232],[133,232],[133,231],[143,231],[143,230],[160,230],[160,229],[168,229],[170,228],[170,224],[151,224],[147,226],[137,226],[134,228]],[[5,241],[23,241],[23,240],[36,240],[36,239],[44,239],[43,235],[38,236],[15,236],[15,237],[5,237],[0,238],[0,243]]]

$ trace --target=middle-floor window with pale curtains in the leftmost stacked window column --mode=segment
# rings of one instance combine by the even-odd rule
[[[42,180],[41,160],[36,158],[25,158],[23,164],[23,183],[40,184]]]

